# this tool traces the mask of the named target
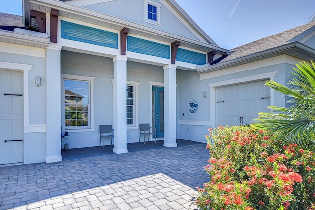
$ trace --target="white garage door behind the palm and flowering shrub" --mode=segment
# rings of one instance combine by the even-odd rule
[[[216,88],[216,124],[246,125],[267,112],[270,88],[266,81],[255,81]]]

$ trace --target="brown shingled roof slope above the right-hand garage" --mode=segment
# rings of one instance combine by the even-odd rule
[[[289,44],[292,42],[291,40],[294,39],[296,36],[304,33],[305,31],[309,30],[312,27],[315,27],[315,21],[276,35],[271,35],[266,38],[259,39],[249,44],[236,47],[234,49],[231,49],[232,51],[231,54],[229,54],[226,58],[222,59],[220,62],[216,63],[227,62],[233,59],[241,58],[247,55],[262,52],[264,50]],[[210,65],[212,64],[215,64],[215,61],[214,63],[210,63]]]

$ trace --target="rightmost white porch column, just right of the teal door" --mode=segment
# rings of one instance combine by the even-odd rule
[[[176,147],[176,65],[164,68],[164,146]]]

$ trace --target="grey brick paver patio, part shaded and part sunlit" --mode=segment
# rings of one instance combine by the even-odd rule
[[[195,209],[205,144],[0,168],[0,209]]]

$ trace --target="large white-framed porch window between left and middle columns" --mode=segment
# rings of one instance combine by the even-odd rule
[[[94,77],[62,74],[62,126],[64,130],[93,128]]]

